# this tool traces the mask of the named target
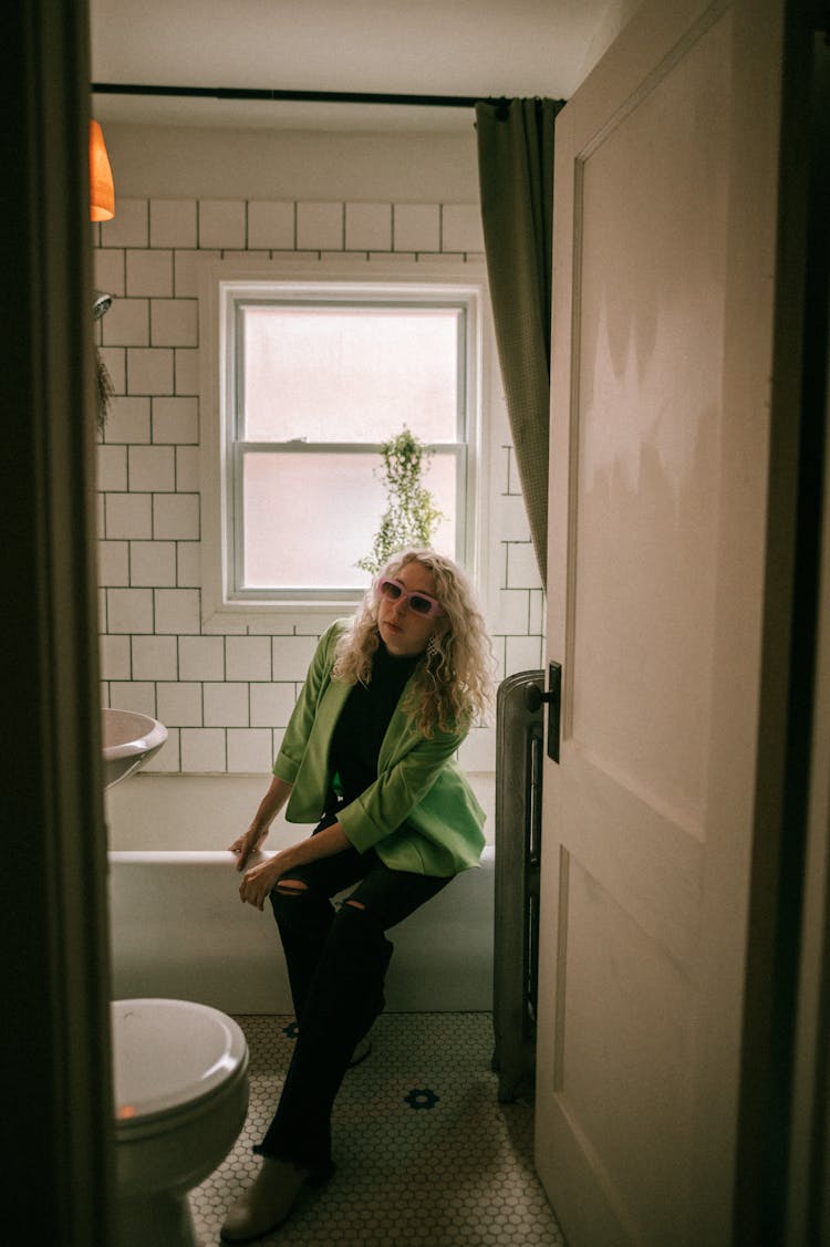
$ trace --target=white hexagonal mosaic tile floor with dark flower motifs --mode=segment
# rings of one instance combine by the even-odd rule
[[[296,1034],[291,1018],[242,1016],[251,1102],[227,1160],[191,1192],[201,1247],[251,1182]],[[489,1014],[386,1014],[346,1076],[333,1117],[334,1176],[305,1191],[262,1247],[564,1247],[533,1170],[533,1109],[499,1104]],[[418,1111],[413,1111],[418,1110]]]

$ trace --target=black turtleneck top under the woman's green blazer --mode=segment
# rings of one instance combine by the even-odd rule
[[[377,779],[377,758],[401,700],[403,686],[421,655],[396,657],[383,641],[372,658],[368,685],[356,683],[332,733],[328,753],[332,774],[337,777],[337,796],[349,802]]]

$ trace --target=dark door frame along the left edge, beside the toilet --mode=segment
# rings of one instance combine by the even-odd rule
[[[4,1233],[107,1247],[87,0],[4,20]]]

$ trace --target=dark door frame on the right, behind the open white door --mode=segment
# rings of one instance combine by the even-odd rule
[[[824,31],[815,17],[794,5],[786,30],[779,254],[801,286],[779,307],[776,345],[803,359],[791,398],[799,458],[788,744],[778,874],[761,869],[753,893],[754,913],[764,914],[773,892],[774,930],[750,948],[746,991],[755,1021],[769,1028],[741,1096],[740,1155],[760,1180],[739,1187],[736,1200],[736,1233],[791,1247],[830,1237],[830,42],[826,17]]]

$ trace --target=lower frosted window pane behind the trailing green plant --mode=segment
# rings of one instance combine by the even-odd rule
[[[368,555],[386,510],[378,455],[262,454],[243,460],[245,584],[241,589],[364,587]],[[436,455],[424,485],[451,519],[433,546],[454,557],[456,459]]]

